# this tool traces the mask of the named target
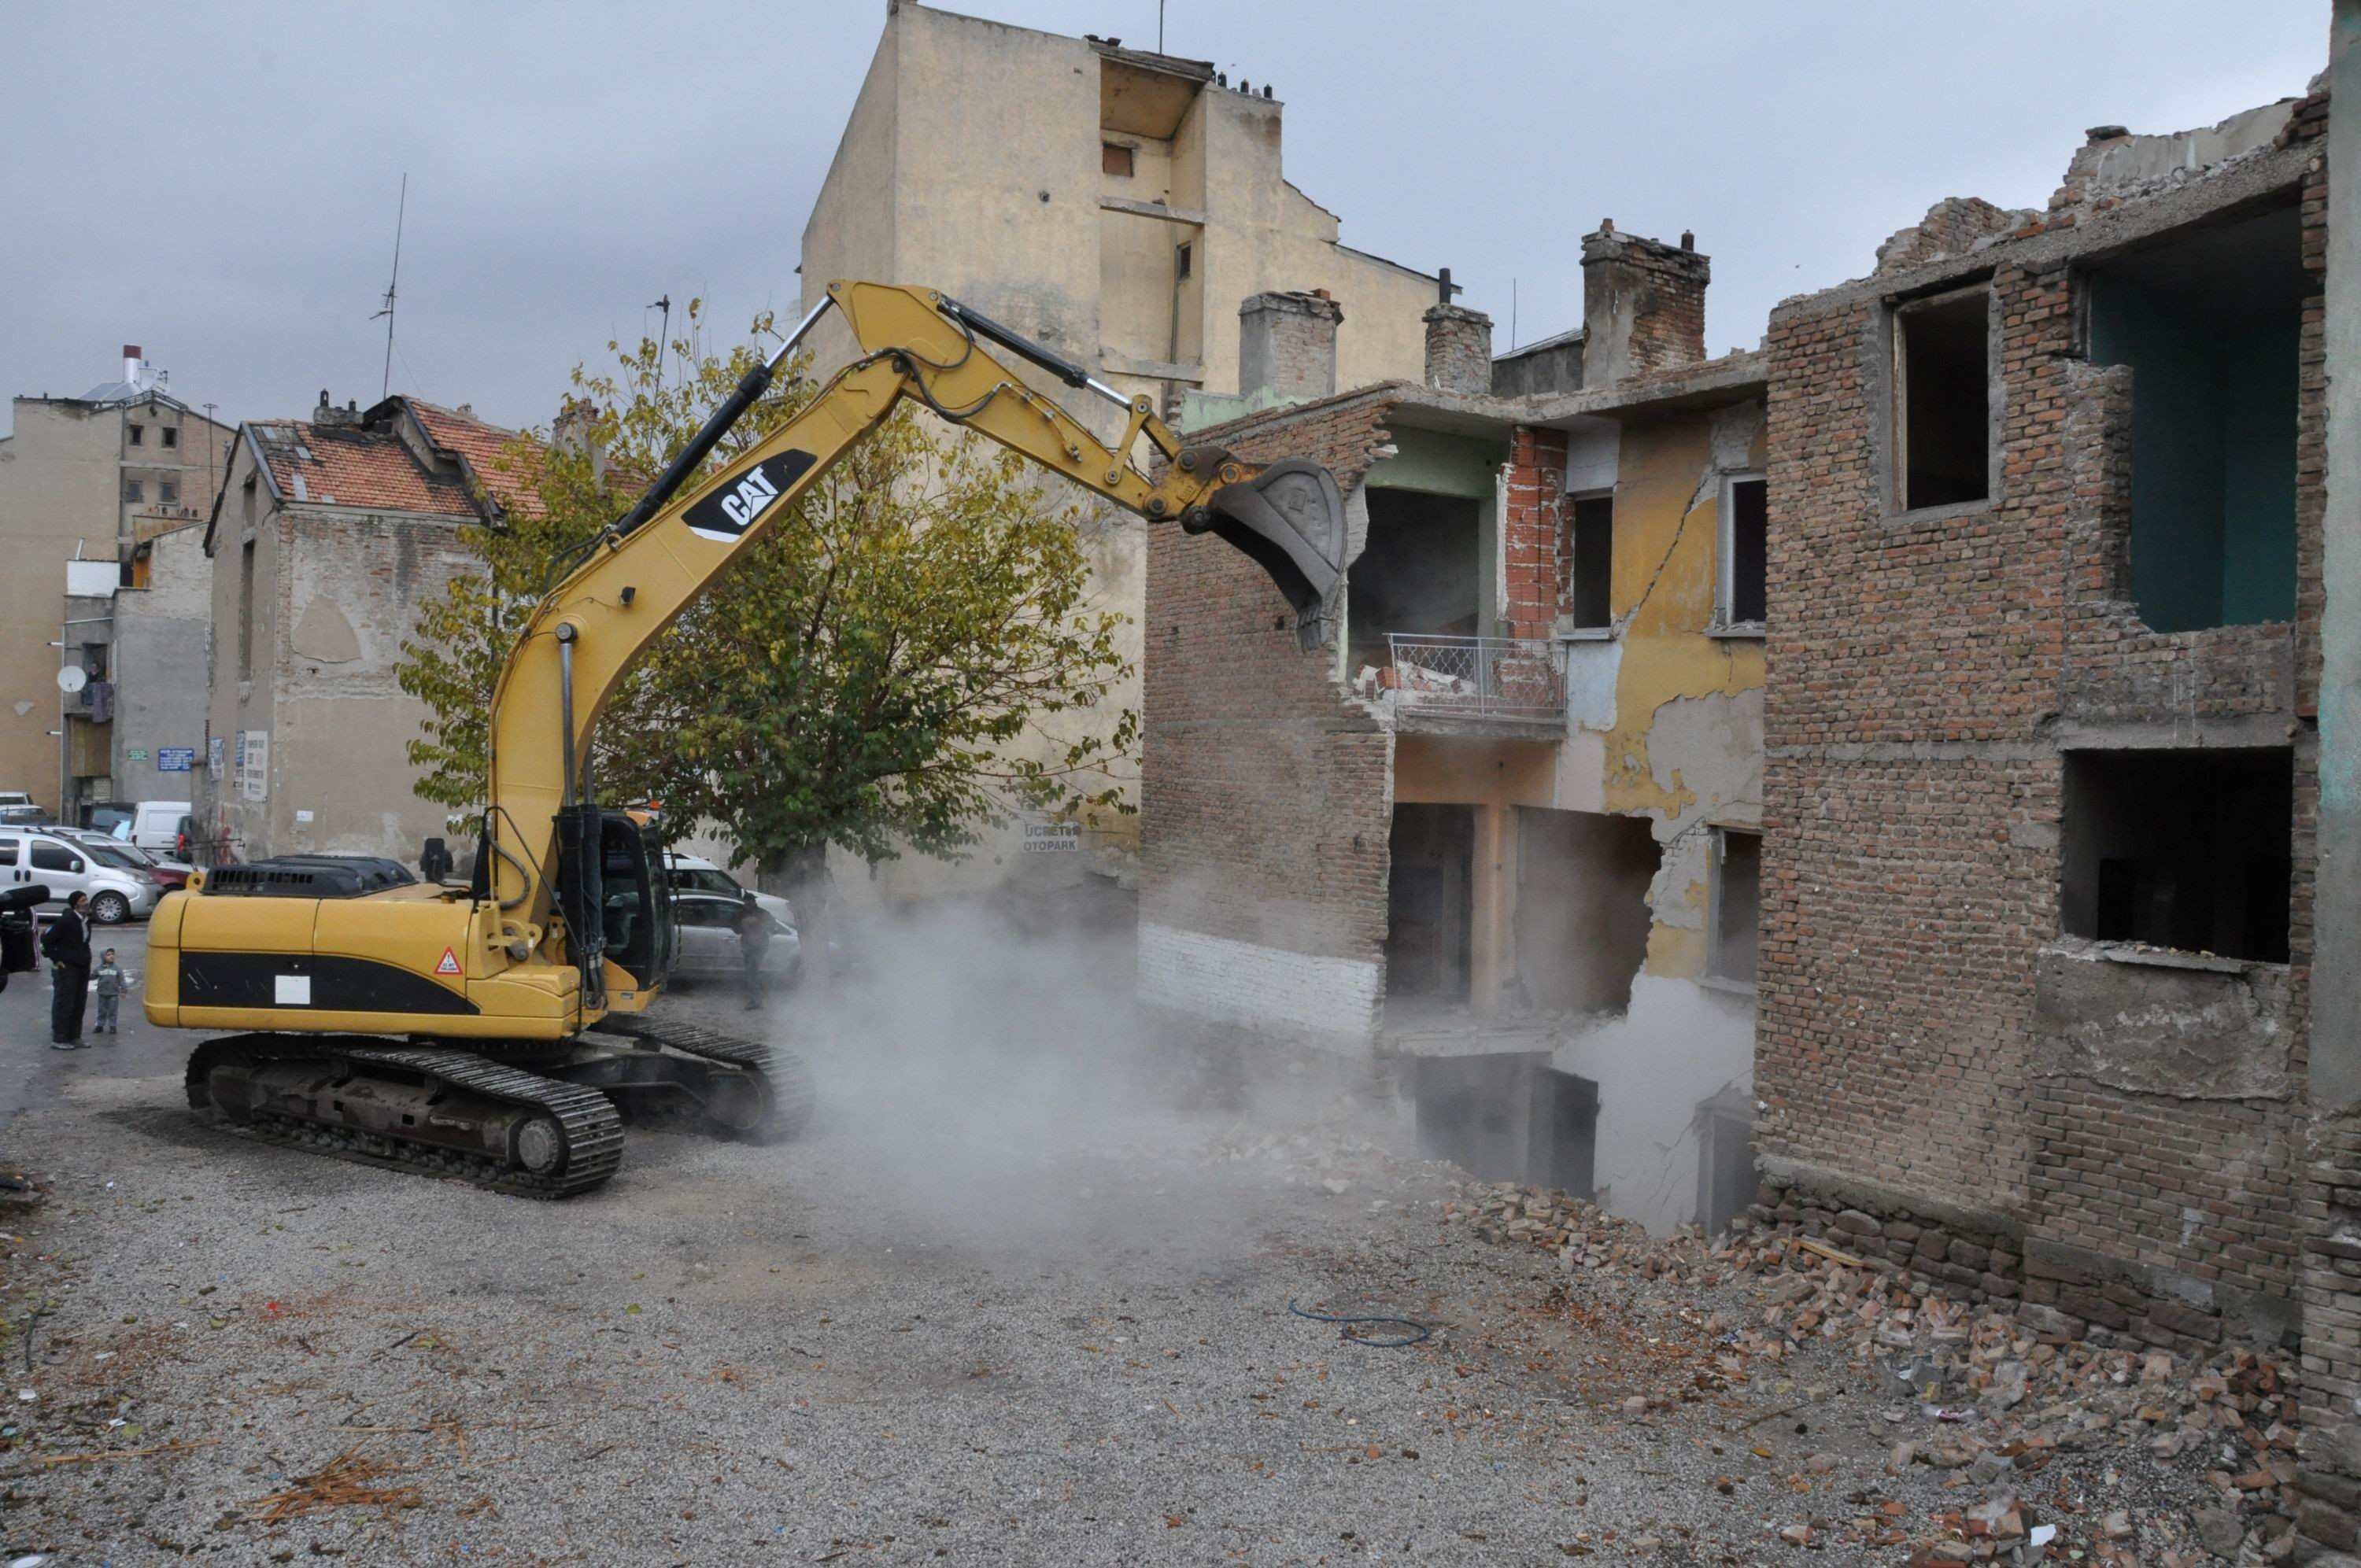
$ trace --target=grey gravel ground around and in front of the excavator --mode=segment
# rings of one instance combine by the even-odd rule
[[[1896,1419],[1919,1417],[1837,1351],[1709,1377],[1709,1313],[1754,1311],[1757,1282],[1568,1280],[1445,1221],[1452,1171],[1407,1159],[1391,1115],[1303,1082],[1190,1110],[1188,1082],[1084,1051],[1098,1004],[1044,997],[1001,978],[895,1013],[956,1051],[878,1048],[859,1008],[822,1030],[779,999],[767,1027],[810,1037],[822,1070],[810,1136],[633,1129],[611,1183],[536,1204],[227,1138],[182,1105],[187,1037],[50,1053],[45,987],[19,978],[0,1152],[50,1195],[0,1209],[0,1544],[54,1563],[1754,1563],[1816,1516],[1901,1502],[1882,1518],[1924,1540],[1986,1495],[1886,1478]],[[744,1023],[727,997],[666,1006]],[[1291,1299],[1438,1327],[1353,1346]],[[342,1507],[302,1511],[302,1478],[340,1457]],[[2141,1464],[2073,1455],[2040,1490],[2153,1492],[2177,1518],[2189,1483]],[[2127,1544],[2179,1547],[2172,1530]],[[1813,1544],[1908,1559],[1825,1528]]]

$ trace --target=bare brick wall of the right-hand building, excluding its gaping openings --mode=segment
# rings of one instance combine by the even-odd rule
[[[1870,288],[1790,302],[1766,340],[1757,1093],[1778,1181],[1764,1211],[1851,1207],[1856,1223],[1898,1223],[1912,1249],[1967,1237],[1979,1268],[1962,1289],[2021,1287],[2056,1329],[2271,1337],[2295,1315],[2316,798],[2297,716],[2319,619],[2319,439],[2297,460],[2297,623],[2146,631],[2127,602],[2132,387],[2078,357],[2071,248],[2012,241],[1976,260],[1997,328],[1988,505],[1889,512],[1884,302]],[[1912,276],[1927,279],[1894,283]],[[2314,316],[2304,432],[2321,404]],[[2274,720],[2281,744],[2297,734],[2285,1060],[2196,1091],[2045,1051],[2061,732],[2191,744],[2234,730],[2257,744]],[[1990,1266],[2019,1263],[2019,1242],[2021,1275]]]

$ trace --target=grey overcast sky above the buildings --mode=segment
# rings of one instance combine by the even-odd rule
[[[1155,0],[970,0],[1157,43]],[[883,24],[831,5],[12,5],[0,392],[80,394],[139,342],[184,401],[300,416],[392,390],[543,423],[659,295],[796,300],[803,220]],[[2082,128],[2297,94],[2328,0],[1169,0],[1166,47],[1287,102],[1287,175],[1346,243],[1450,267],[1509,347],[1580,319],[1601,217],[1714,257],[1712,352],[1870,269],[1941,196],[2040,205]],[[923,283],[928,279],[895,279]]]

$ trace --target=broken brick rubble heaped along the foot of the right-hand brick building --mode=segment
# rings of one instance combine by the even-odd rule
[[[1582,1280],[1733,1285],[1674,1313],[1705,1329],[1709,1384],[1700,1386],[1766,1386],[1787,1377],[1804,1348],[1877,1379],[1877,1398],[1891,1400],[1882,1419],[1894,1429],[1879,1485],[1849,1492],[1849,1507],[1832,1516],[1783,1525],[1787,1544],[1917,1542],[1910,1561],[1922,1568],[1990,1559],[2274,1563],[2295,1554],[2297,1379],[2269,1353],[2177,1355],[2071,1339],[2014,1301],[1964,1304],[1945,1294],[1945,1280],[1891,1259],[1856,1259],[1747,1221],[1719,1244],[1693,1226],[1655,1240],[1584,1200],[1516,1183],[1464,1183],[1443,1216],[1487,1242],[1556,1259],[1575,1289]],[[1695,1396],[1634,1396],[1622,1412],[1669,1403]],[[2163,1471],[2146,1488],[2130,1478],[2134,1450]],[[2042,1476],[2061,1459],[2071,1459],[2061,1469],[2075,1471],[2075,1483],[2059,1471]],[[1804,1476],[1834,1469],[1834,1457],[1813,1455]],[[1910,1518],[1903,1502],[1882,1495],[1896,1483],[1962,1500]]]

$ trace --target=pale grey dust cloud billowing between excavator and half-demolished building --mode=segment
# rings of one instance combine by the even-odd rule
[[[1036,1256],[1230,1252],[1391,1122],[1303,1063],[1157,1023],[1133,928],[935,904],[841,933],[772,997],[772,1044],[819,1079],[789,1145],[852,1176],[914,1242]]]

